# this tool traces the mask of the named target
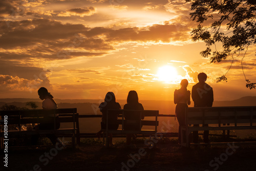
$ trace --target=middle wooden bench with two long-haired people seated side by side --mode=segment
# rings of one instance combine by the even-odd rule
[[[118,116],[119,119],[117,119],[117,124],[121,125],[121,129],[118,129],[118,130],[110,130],[109,129],[108,115],[110,112],[116,112],[119,115]],[[140,129],[140,130],[124,130],[124,123],[125,123],[124,113],[125,112],[139,112],[140,118],[142,115],[144,115],[145,117],[148,117],[148,116],[155,117],[155,120],[141,120],[140,119],[140,127],[141,126],[153,126],[154,129],[145,130],[142,127],[142,129]],[[109,133],[118,134],[118,135],[124,135],[124,134],[153,135],[153,134],[156,134],[157,126],[159,124],[157,121],[158,114],[159,114],[159,111],[153,111],[153,110],[108,110],[107,117],[106,117],[106,130],[104,131],[106,134],[106,145],[109,146],[109,141],[108,141]]]

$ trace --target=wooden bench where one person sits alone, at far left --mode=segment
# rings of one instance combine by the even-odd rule
[[[51,115],[56,116],[58,114],[60,126],[61,123],[73,123],[67,129],[53,129],[53,130],[29,130],[23,131],[22,125],[27,123],[40,123],[43,116]],[[8,127],[10,125],[17,125],[18,130],[8,129],[8,138],[11,137],[28,137],[31,135],[47,135],[55,134],[61,137],[72,137],[72,146],[75,147],[75,137],[79,135],[79,122],[78,113],[76,108],[72,109],[55,109],[55,110],[17,110],[17,111],[0,111],[0,119],[2,120],[0,135],[1,135],[1,149],[3,148],[5,134],[5,118],[7,120]],[[55,126],[55,125],[54,125]],[[79,136],[78,136],[79,137]],[[77,142],[80,140],[77,139]]]

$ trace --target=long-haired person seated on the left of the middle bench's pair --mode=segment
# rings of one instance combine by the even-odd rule
[[[121,109],[121,106],[118,102],[116,102],[116,97],[113,92],[106,93],[104,102],[100,103],[99,110],[102,113],[101,118],[101,130],[96,134],[98,138],[100,138],[100,134],[103,132],[103,130],[106,129],[106,115],[108,112],[108,109]],[[117,123],[118,113],[117,112],[109,112],[108,113],[108,129],[109,130],[117,130],[118,129],[118,123]],[[109,136],[109,143],[112,144],[113,141],[113,135],[108,134]]]

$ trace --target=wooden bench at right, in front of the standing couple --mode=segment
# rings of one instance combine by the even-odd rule
[[[200,126],[193,126],[199,124]],[[208,126],[202,126],[208,124]],[[181,137],[185,131],[185,141],[181,144],[189,147],[189,134],[193,131],[216,130],[255,130],[256,106],[187,108],[185,113],[185,126],[181,127]]]

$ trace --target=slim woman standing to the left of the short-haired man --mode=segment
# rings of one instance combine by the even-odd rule
[[[174,92],[174,103],[177,104],[175,113],[179,121],[179,144],[181,144],[182,138],[185,140],[185,134],[183,134],[184,137],[181,137],[181,126],[185,125],[185,111],[190,104],[190,91],[187,90],[187,79],[181,80],[180,85],[181,88],[179,90],[175,90]]]

